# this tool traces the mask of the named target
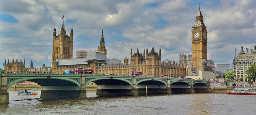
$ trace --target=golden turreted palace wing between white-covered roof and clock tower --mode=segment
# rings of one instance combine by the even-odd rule
[[[145,76],[160,76],[161,74],[168,74],[174,77],[185,76],[185,66],[168,62],[161,62],[161,49],[159,54],[154,47],[148,52],[148,48],[142,53],[137,49],[133,53],[131,49],[131,61],[128,64],[128,58],[124,58],[123,64],[105,64],[100,68],[102,74],[122,74],[127,75],[129,71],[141,71]]]

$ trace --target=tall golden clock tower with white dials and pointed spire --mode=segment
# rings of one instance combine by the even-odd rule
[[[207,28],[203,22],[200,5],[196,14],[195,24],[192,26],[192,62],[196,70],[200,60],[207,60]]]

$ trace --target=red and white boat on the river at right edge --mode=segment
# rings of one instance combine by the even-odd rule
[[[226,94],[233,95],[256,95],[256,89],[253,88],[234,88],[233,90],[228,90]]]

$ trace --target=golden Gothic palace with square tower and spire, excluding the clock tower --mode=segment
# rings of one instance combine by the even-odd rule
[[[72,42],[72,43],[71,43]],[[66,49],[67,48],[67,49]],[[63,50],[62,50],[63,49]],[[107,58],[107,49],[103,36],[100,39],[100,45],[97,51],[86,51],[85,58],[72,58],[73,49],[73,29],[70,37],[66,34],[65,28],[61,27],[61,34],[56,36],[56,29],[53,29],[53,60],[52,72],[63,73],[65,70],[75,68],[92,68],[97,74],[122,74],[127,75],[129,71],[142,71],[143,75],[160,76],[161,74],[170,74],[171,76],[185,76],[185,66],[170,62],[161,62],[161,49],[151,51],[144,49],[143,54],[137,52],[133,54],[131,50],[130,63],[129,58],[124,58],[121,63],[119,59]],[[69,52],[69,53],[67,53]]]

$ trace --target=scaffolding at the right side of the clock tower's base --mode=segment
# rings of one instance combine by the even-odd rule
[[[215,64],[213,60],[200,60],[199,71],[212,71],[215,72]]]

